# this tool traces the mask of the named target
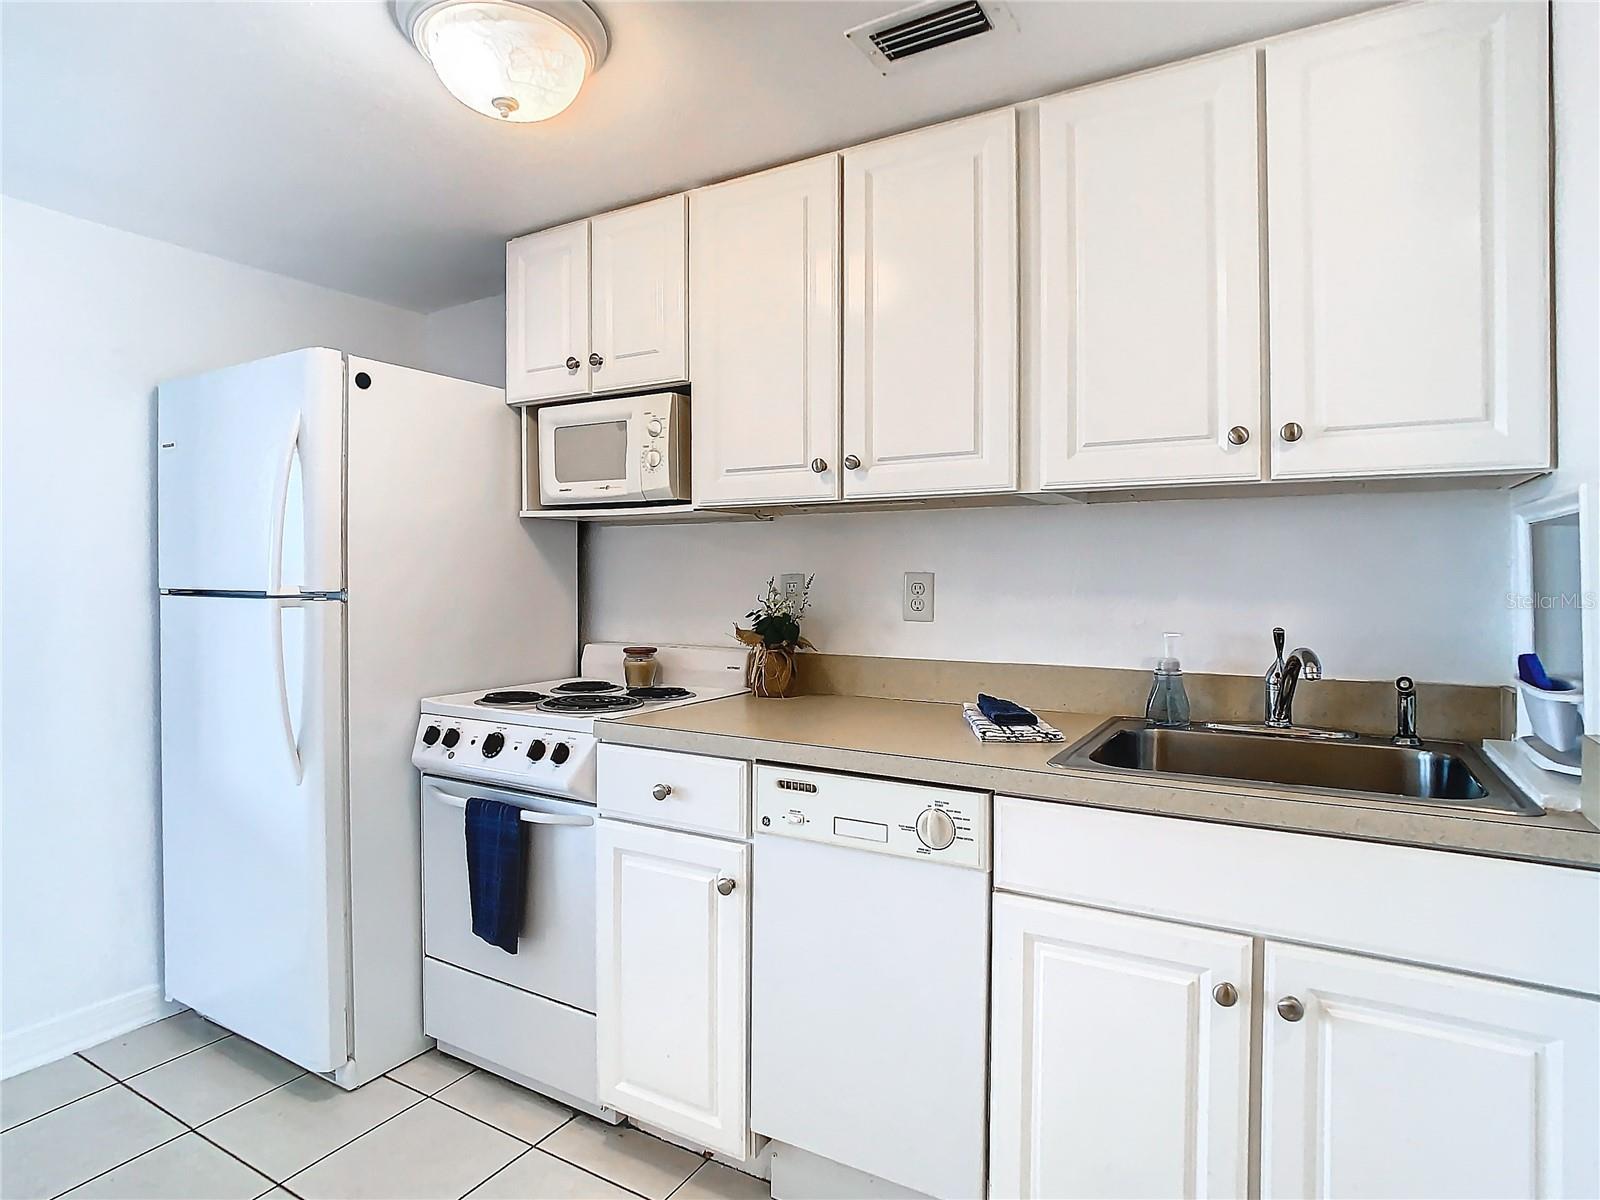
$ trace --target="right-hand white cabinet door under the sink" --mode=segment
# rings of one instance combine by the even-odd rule
[[[1262,1197],[1600,1194],[1600,1002],[1277,942],[1264,995]]]

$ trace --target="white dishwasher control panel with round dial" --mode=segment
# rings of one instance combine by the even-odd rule
[[[755,832],[989,870],[989,792],[757,763]]]

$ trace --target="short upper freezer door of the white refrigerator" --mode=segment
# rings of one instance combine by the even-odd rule
[[[344,590],[344,355],[294,350],[162,384],[163,590]]]

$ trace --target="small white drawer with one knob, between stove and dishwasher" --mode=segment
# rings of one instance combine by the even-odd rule
[[[600,747],[600,811],[670,829],[750,835],[750,765],[738,758]]]

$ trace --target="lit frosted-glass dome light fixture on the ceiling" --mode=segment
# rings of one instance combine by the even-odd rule
[[[496,120],[562,112],[608,48],[581,0],[394,0],[394,14],[445,90]]]

